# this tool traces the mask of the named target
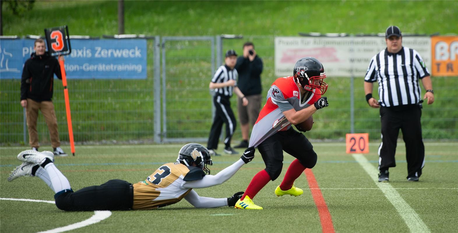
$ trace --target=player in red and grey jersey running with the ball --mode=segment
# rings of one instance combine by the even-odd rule
[[[267,102],[261,110],[250,137],[250,146],[258,147],[266,168],[257,173],[237,201],[235,208],[262,209],[253,203],[255,195],[270,181],[278,178],[283,166],[283,151],[296,159],[289,165],[275,194],[301,195],[294,187],[305,168],[316,164],[316,153],[310,141],[291,127],[308,119],[316,110],[327,107],[326,78],[321,62],[312,57],[301,58],[294,65],[293,76],[275,80],[267,92]]]

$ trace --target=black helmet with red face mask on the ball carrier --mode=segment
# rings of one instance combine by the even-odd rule
[[[324,94],[327,90],[327,83],[323,81],[326,78],[326,72],[324,72],[323,65],[321,62],[313,57],[304,57],[299,59],[294,65],[293,70],[294,81],[296,81],[301,87],[309,92],[316,93],[316,89],[319,89]],[[319,81],[319,84],[315,84],[315,80]]]

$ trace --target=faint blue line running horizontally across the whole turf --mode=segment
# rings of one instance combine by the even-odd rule
[[[377,160],[369,160],[370,163],[378,163]],[[113,166],[113,165],[162,165],[165,163],[170,163],[170,162],[152,162],[152,163],[58,163],[57,166]],[[232,164],[234,162],[213,162],[214,164]],[[251,162],[253,163],[262,163],[264,162]],[[288,164],[291,162],[284,161],[283,163]],[[355,160],[329,160],[329,161],[318,161],[316,163],[358,163]],[[399,160],[396,161],[396,163],[407,163],[405,160]],[[426,160],[426,163],[458,163],[458,160]],[[0,167],[16,167],[14,164],[4,164],[0,165]]]

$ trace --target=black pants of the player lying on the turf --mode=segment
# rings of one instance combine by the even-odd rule
[[[56,193],[54,198],[57,208],[64,211],[131,210],[134,189],[127,181],[111,179],[76,192]]]

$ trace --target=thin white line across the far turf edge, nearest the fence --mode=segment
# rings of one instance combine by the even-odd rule
[[[370,143],[370,145],[379,145],[380,143]],[[456,146],[458,148],[458,142],[424,142],[425,146]],[[103,146],[76,146],[81,149],[132,149],[132,148],[174,148],[180,147],[181,144],[158,144],[158,145],[103,145]],[[345,146],[345,142],[313,142],[313,146]],[[1,146],[0,149],[27,149],[28,146]]]

